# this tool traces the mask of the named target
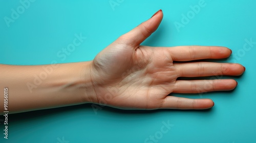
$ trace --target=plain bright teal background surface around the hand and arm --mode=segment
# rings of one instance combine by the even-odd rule
[[[238,81],[233,91],[175,94],[210,98],[215,102],[210,110],[95,111],[88,104],[12,114],[8,139],[0,122],[0,142],[256,142],[256,1],[21,0],[0,1],[0,9],[4,64],[92,60],[162,9],[163,21],[144,45],[227,46],[232,56],[220,62],[246,67],[243,76],[231,77]],[[69,55],[63,53],[80,34],[87,38]]]

